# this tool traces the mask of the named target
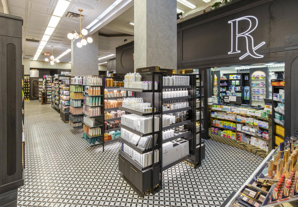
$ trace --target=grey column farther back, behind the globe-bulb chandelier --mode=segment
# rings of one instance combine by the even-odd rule
[[[98,33],[90,36],[93,42],[81,48],[71,41],[71,76],[98,75]]]

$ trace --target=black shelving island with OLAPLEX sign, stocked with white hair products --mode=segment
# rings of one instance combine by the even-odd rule
[[[124,77],[120,90],[131,91],[134,97],[124,99],[119,107],[129,113],[121,116],[119,124],[119,170],[141,197],[149,189],[154,194],[162,188],[164,170],[186,160],[194,167],[201,164],[203,116],[196,110],[202,107],[196,105],[196,81],[196,75],[163,76],[160,72]]]

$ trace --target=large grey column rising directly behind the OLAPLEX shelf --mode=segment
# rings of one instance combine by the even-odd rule
[[[177,70],[176,0],[134,0],[134,70]]]

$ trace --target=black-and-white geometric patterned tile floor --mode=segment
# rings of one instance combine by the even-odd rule
[[[139,198],[118,175],[120,143],[89,147],[82,129],[50,104],[25,102],[25,185],[19,206],[219,206],[260,164],[252,153],[206,140],[199,169],[184,162],[164,172],[164,189]]]

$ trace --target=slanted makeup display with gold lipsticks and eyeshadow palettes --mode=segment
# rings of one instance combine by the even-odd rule
[[[298,132],[272,150],[226,207],[298,206]]]

